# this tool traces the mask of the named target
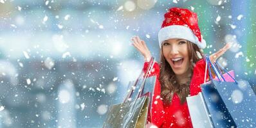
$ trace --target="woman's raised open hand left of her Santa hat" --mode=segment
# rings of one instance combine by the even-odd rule
[[[134,36],[132,38],[132,45],[144,56],[145,61],[151,60],[151,51],[147,48],[144,40],[140,40],[139,36]]]

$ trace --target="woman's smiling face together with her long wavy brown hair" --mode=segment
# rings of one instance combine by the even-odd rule
[[[193,63],[199,61],[196,51],[203,55],[197,45],[184,39],[169,39],[163,42],[160,56],[161,70],[160,81],[165,81],[161,96],[167,104],[171,103],[173,93],[178,93],[181,102],[185,102],[189,94],[190,78],[194,67]],[[176,86],[179,84],[179,86]]]

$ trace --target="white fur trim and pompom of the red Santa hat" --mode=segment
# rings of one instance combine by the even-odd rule
[[[165,40],[169,40],[171,38],[182,38],[188,40],[194,44],[196,44],[199,48],[205,49],[206,42],[205,40],[199,42],[196,35],[194,35],[193,31],[185,26],[172,25],[161,28],[158,33],[158,42],[161,48],[161,44]]]

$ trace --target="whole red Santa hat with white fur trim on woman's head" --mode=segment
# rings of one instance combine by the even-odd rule
[[[165,19],[158,33],[158,41],[161,44],[170,38],[182,38],[204,49],[206,42],[201,36],[197,23],[197,15],[188,9],[170,8],[165,13]]]

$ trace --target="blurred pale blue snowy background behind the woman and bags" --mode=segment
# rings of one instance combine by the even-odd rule
[[[193,10],[206,54],[255,89],[256,1],[0,0],[0,128],[102,127],[138,77],[140,36],[159,61],[158,31],[170,7]]]

